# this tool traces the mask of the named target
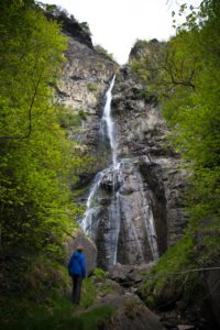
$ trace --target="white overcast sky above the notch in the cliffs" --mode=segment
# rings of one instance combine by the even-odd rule
[[[128,61],[138,38],[160,41],[175,34],[172,11],[177,3],[198,7],[201,0],[40,0],[66,9],[79,22],[89,24],[94,44],[112,53],[119,64]]]

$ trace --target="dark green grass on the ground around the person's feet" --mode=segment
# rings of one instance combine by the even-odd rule
[[[42,300],[36,299],[36,294],[33,292],[22,299],[14,297],[7,301],[7,308],[0,312],[0,328],[4,330],[100,329],[100,324],[110,319],[113,309],[103,306],[86,312],[85,309],[95,302],[95,297],[91,278],[84,282],[79,307],[73,305],[69,297],[57,293],[47,293]]]

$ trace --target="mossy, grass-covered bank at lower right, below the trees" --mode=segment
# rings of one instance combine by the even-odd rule
[[[150,308],[168,306],[176,299],[193,306],[204,299],[207,289],[200,268],[216,265],[220,253],[219,223],[210,219],[206,222],[189,227],[146,275],[142,298]]]

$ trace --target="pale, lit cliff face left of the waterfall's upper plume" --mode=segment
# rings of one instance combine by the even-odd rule
[[[69,113],[82,113],[81,127],[69,128],[69,136],[79,141],[86,150],[95,152],[102,96],[118,65],[72,36],[65,57],[67,63],[56,87],[56,98]]]

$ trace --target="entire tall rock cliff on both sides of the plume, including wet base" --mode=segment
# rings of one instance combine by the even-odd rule
[[[86,117],[79,131],[70,129],[89,152],[105,157],[103,168],[88,187],[94,204],[85,229],[98,248],[98,265],[117,262],[141,264],[155,260],[176,242],[186,223],[183,193],[186,173],[182,161],[165,143],[166,123],[154,99],[143,97],[143,86],[129,66],[119,66],[92,45],[69,34],[67,63],[57,86],[59,103]],[[110,141],[100,138],[105,94],[112,89],[117,165]]]

